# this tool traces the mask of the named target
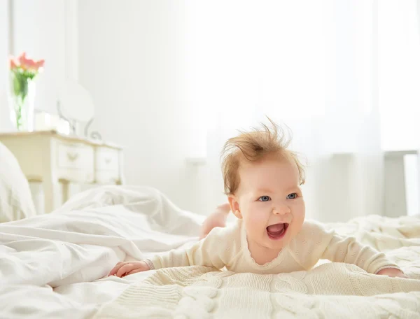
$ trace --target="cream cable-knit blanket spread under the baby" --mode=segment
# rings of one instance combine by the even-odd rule
[[[160,269],[94,318],[420,318],[420,220],[370,216],[331,226],[384,251],[410,279],[330,262],[278,275]]]

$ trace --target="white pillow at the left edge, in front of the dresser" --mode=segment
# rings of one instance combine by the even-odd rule
[[[36,215],[29,183],[15,156],[0,143],[0,222]]]

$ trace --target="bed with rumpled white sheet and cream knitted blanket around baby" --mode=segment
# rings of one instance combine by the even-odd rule
[[[420,318],[416,217],[328,224],[384,251],[409,279],[325,261],[276,276],[208,267],[106,276],[120,260],[193,244],[203,220],[151,187],[106,186],[1,223],[0,318]]]

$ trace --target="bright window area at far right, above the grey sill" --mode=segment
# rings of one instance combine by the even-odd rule
[[[420,1],[378,1],[379,108],[384,150],[419,149]]]

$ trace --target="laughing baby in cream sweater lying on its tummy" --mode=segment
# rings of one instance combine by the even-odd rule
[[[279,274],[309,270],[326,259],[356,264],[371,274],[407,278],[384,253],[304,221],[302,164],[288,150],[283,131],[270,122],[272,127],[263,125],[225,143],[222,170],[230,208],[237,217],[233,227],[216,227],[186,250],[119,262],[109,276],[193,265]]]

